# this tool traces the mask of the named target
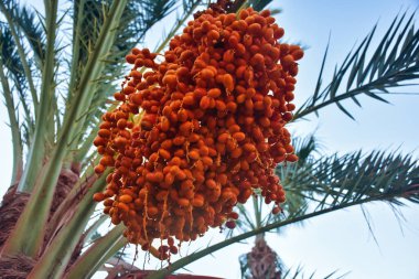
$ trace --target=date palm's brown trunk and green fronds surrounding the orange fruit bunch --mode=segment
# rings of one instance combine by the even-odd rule
[[[235,1],[232,11],[245,6],[261,10],[269,2]],[[105,235],[99,229],[107,218],[95,212],[92,196],[104,189],[106,175],[94,173],[98,159],[92,142],[100,116],[116,105],[109,99],[120,88],[117,81],[126,72],[129,50],[142,43],[155,23],[178,11],[173,28],[155,49],[161,52],[193,12],[206,4],[200,0],[45,0],[40,13],[15,0],[0,2],[0,82],[13,142],[11,186],[0,207],[3,278],[89,278],[105,262],[112,266],[109,275],[127,276],[126,269],[118,271],[123,260],[115,260],[127,244],[123,227],[115,226]],[[336,67],[326,86],[322,85],[324,55],[315,92],[294,121],[330,105],[352,117],[342,101],[359,105],[359,95],[386,101],[395,88],[417,79],[419,33],[413,15],[406,17],[394,21],[369,57],[373,30]],[[411,157],[382,151],[314,157],[314,147],[313,139],[303,140],[300,162],[278,167],[288,190],[284,215],[264,217],[258,198],[254,206],[239,205],[239,234],[150,278],[163,278],[251,236],[259,236],[262,246],[264,233],[321,214],[372,201],[396,206],[404,200],[419,202],[419,169]],[[251,262],[247,259],[248,267]]]

